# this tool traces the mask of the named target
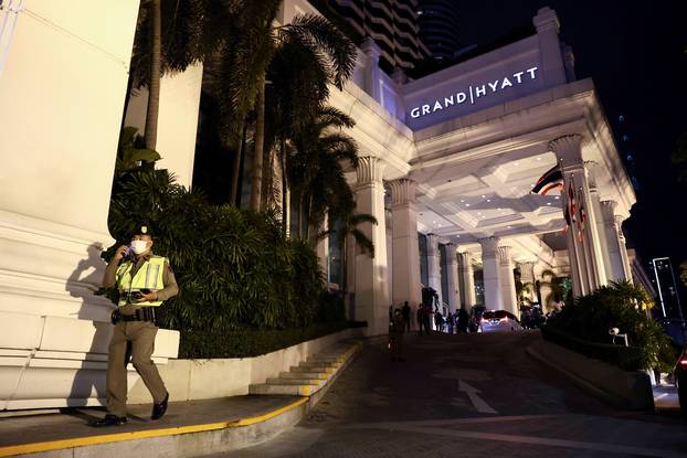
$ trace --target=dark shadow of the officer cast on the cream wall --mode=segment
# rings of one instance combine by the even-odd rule
[[[102,251],[101,244],[89,245],[86,258],[78,262],[66,284],[70,295],[81,300],[76,323],[80,335],[67,339],[60,349],[81,353],[72,360],[76,373],[67,398],[70,407],[99,404],[97,400],[106,396],[107,353],[113,331],[109,315],[116,306],[104,296],[95,296],[103,283]]]

